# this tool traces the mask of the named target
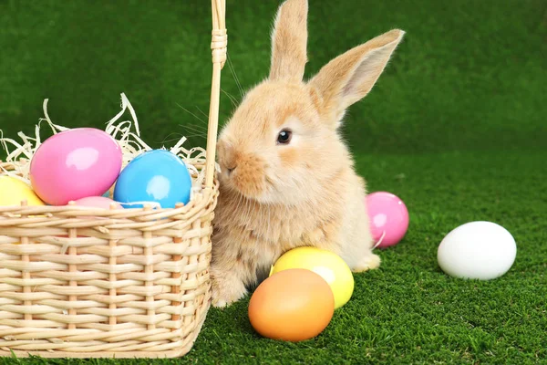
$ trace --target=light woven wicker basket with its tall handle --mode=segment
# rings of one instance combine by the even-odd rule
[[[0,207],[0,355],[174,358],[191,349],[211,303],[224,12],[225,0],[212,0],[206,178],[191,203]]]

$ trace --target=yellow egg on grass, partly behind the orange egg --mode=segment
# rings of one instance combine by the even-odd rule
[[[291,268],[304,268],[322,276],[335,296],[335,308],[344,306],[354,291],[353,274],[346,262],[335,253],[315,247],[298,247],[279,257],[270,276]]]

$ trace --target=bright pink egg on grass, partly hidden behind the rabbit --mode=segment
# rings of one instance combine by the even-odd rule
[[[370,230],[377,247],[397,245],[408,230],[407,205],[393,193],[377,192],[366,196]]]

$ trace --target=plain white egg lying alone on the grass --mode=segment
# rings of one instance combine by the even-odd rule
[[[509,271],[517,255],[513,236],[499,224],[470,222],[444,237],[437,260],[449,276],[490,280]]]

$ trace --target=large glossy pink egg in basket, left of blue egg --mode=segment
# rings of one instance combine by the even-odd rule
[[[122,151],[107,132],[65,130],[42,143],[30,162],[35,193],[51,205],[100,196],[119,176]]]

